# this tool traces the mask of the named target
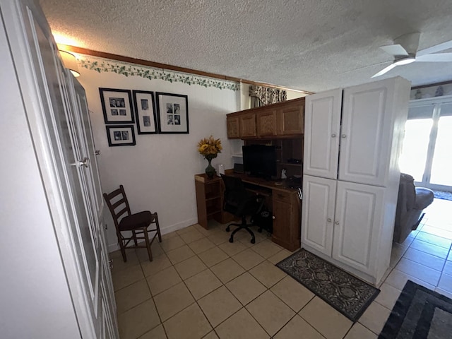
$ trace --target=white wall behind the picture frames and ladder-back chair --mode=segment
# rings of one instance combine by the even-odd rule
[[[198,154],[196,145],[212,134],[220,138],[222,153],[212,164],[232,168],[234,153],[227,140],[225,114],[239,110],[239,91],[204,88],[201,85],[152,81],[138,76],[90,71],[79,68],[78,81],[85,88],[93,124],[100,179],[104,192],[119,184],[126,189],[132,212],[156,211],[162,233],[171,232],[197,222],[194,175],[203,173],[208,165]],[[99,88],[148,90],[188,95],[189,134],[136,133],[135,146],[109,147],[100,103]],[[136,126],[135,126],[136,130]],[[109,250],[117,249],[117,237],[108,210],[105,213]]]

